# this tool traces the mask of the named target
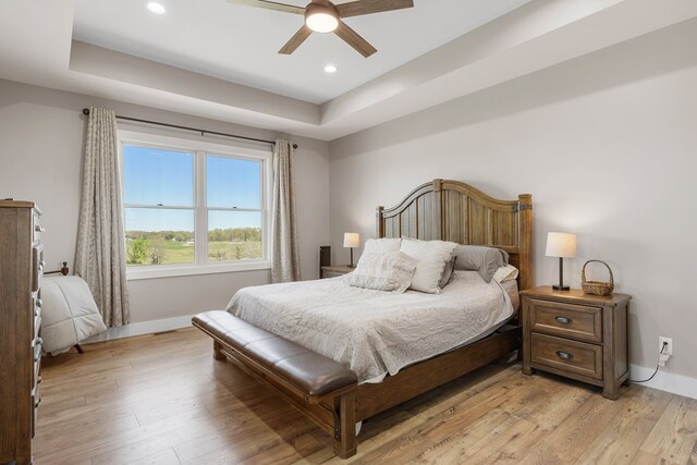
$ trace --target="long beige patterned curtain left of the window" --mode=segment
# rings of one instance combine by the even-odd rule
[[[117,118],[112,110],[90,108],[75,274],[89,285],[108,327],[130,320],[121,212]]]

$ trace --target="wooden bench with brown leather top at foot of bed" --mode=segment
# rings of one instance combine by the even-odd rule
[[[213,339],[213,357],[232,358],[283,394],[292,405],[334,436],[342,458],[356,453],[352,370],[228,311],[206,311],[192,323]]]

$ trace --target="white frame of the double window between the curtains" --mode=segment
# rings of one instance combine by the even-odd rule
[[[182,277],[192,274],[210,274],[234,271],[252,271],[271,269],[271,183],[272,159],[270,149],[256,149],[232,144],[211,143],[201,139],[186,139],[160,134],[119,130],[119,164],[121,170],[121,193],[125,199],[123,182],[123,146],[138,145],[142,147],[160,148],[164,150],[187,151],[194,154],[194,246],[195,262],[148,265],[143,267],[126,267],[127,280],[154,278]],[[208,205],[206,193],[206,157],[228,157],[247,159],[261,162],[261,258],[246,260],[208,261]],[[124,203],[125,204],[125,203]],[[148,205],[148,208],[150,206]],[[156,207],[158,208],[158,207]],[[159,208],[179,208],[162,206]],[[189,209],[192,207],[181,207]],[[217,208],[220,211],[250,211],[245,208]],[[257,209],[252,209],[258,211]],[[122,211],[125,224],[125,208]],[[125,240],[125,237],[124,237]]]

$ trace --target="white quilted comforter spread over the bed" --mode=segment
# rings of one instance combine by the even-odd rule
[[[352,287],[344,277],[245,287],[228,311],[380,382],[489,334],[513,307],[496,280],[456,271],[441,294]]]

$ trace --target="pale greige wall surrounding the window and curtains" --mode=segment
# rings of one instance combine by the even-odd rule
[[[75,257],[85,107],[119,114],[273,139],[280,134],[204,120],[84,95],[0,81],[0,198],[36,201],[44,212],[49,269]],[[175,133],[175,135],[191,133]],[[192,136],[195,137],[195,136]],[[295,151],[298,240],[304,279],[318,278],[319,246],[329,242],[329,159],[325,142],[291,137]],[[216,139],[224,142],[224,139]],[[266,284],[270,273],[246,271],[130,281],[132,321],[147,321],[223,307],[247,285]]]

